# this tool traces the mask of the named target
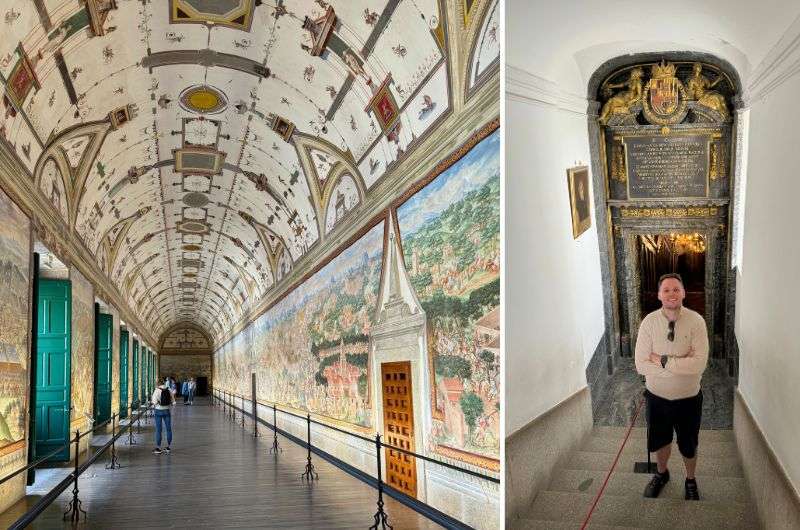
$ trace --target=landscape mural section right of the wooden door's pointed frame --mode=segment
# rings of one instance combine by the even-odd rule
[[[500,455],[500,137],[494,132],[397,209],[427,317],[438,452]]]

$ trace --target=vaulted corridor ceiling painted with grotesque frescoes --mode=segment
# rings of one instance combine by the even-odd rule
[[[154,334],[217,337],[450,110],[442,9],[0,0],[0,142]]]

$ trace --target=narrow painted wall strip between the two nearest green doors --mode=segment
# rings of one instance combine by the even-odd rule
[[[94,290],[76,268],[70,269],[72,281],[72,373],[71,427],[92,418],[94,389]]]

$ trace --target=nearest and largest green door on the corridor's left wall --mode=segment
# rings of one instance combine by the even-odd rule
[[[70,438],[69,377],[72,289],[69,280],[39,280],[36,330],[36,457]],[[53,461],[68,461],[69,446]]]

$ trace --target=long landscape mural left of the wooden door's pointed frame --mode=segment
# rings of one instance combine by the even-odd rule
[[[373,425],[369,332],[383,256],[381,222],[216,353],[215,384],[350,424]]]

